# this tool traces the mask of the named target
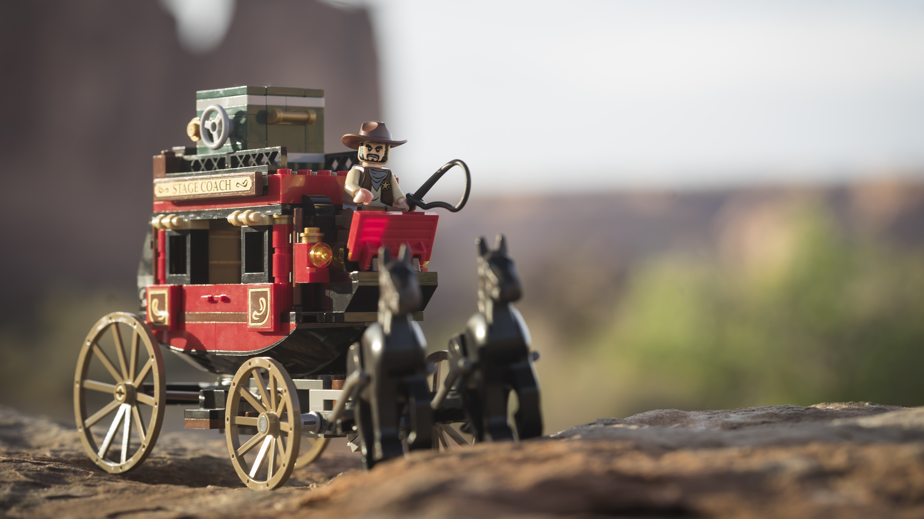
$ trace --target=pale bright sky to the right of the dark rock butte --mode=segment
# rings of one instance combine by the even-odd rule
[[[505,191],[924,170],[921,1],[348,3],[411,185],[456,158]]]

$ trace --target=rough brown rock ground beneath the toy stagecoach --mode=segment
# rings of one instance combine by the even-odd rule
[[[329,452],[291,486],[241,488],[224,440],[162,434],[110,476],[74,431],[0,408],[12,518],[924,517],[924,408],[656,410],[536,441],[419,453],[369,473]],[[191,440],[192,439],[192,440]]]

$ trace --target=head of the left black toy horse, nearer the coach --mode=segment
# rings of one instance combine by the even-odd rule
[[[402,243],[396,258],[387,247],[379,249],[379,313],[404,317],[419,309],[423,294],[417,281],[417,272],[410,264],[410,248]]]

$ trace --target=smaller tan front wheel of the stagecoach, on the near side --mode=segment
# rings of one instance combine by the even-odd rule
[[[249,438],[241,443],[241,435]],[[295,383],[278,360],[250,359],[237,370],[225,408],[225,437],[237,476],[249,488],[286,483],[298,457],[301,408]]]

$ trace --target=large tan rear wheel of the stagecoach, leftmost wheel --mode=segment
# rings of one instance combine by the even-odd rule
[[[131,336],[128,355],[122,340],[123,331]],[[111,334],[111,342],[107,334]],[[117,366],[110,357],[113,352]],[[103,380],[111,377],[112,382],[92,380],[89,376]],[[93,324],[80,348],[74,375],[77,431],[93,463],[113,474],[141,465],[151,454],[161,431],[165,386],[160,346],[151,329],[137,316],[109,313]],[[110,397],[109,403],[99,403]],[[88,413],[88,408],[92,414]],[[114,411],[116,417],[112,422],[103,420]],[[106,425],[108,427],[103,429]],[[132,429],[138,436],[135,447],[132,446]],[[102,439],[99,446],[97,436]],[[116,460],[109,458],[114,444],[119,446]]]

